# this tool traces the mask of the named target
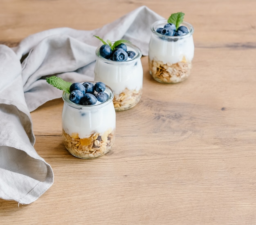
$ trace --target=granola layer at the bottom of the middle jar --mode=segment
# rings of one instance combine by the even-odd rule
[[[127,110],[135,106],[142,95],[142,89],[129,90],[125,88],[119,95],[115,94],[113,103],[116,111]]]

